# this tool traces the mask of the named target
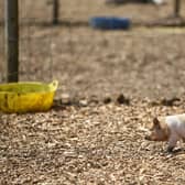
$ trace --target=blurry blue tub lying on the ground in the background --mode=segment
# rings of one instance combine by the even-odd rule
[[[90,26],[101,30],[128,30],[131,25],[128,18],[95,17],[89,21]]]

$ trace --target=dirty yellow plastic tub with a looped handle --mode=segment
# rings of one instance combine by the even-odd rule
[[[9,83],[0,85],[0,110],[3,112],[46,111],[52,107],[58,81]]]

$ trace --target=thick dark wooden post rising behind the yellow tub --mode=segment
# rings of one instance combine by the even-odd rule
[[[7,81],[19,80],[19,0],[6,1]]]

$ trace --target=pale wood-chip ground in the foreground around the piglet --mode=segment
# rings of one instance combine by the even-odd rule
[[[179,112],[137,100],[1,115],[1,184],[183,184],[184,152],[144,140],[155,113]]]

